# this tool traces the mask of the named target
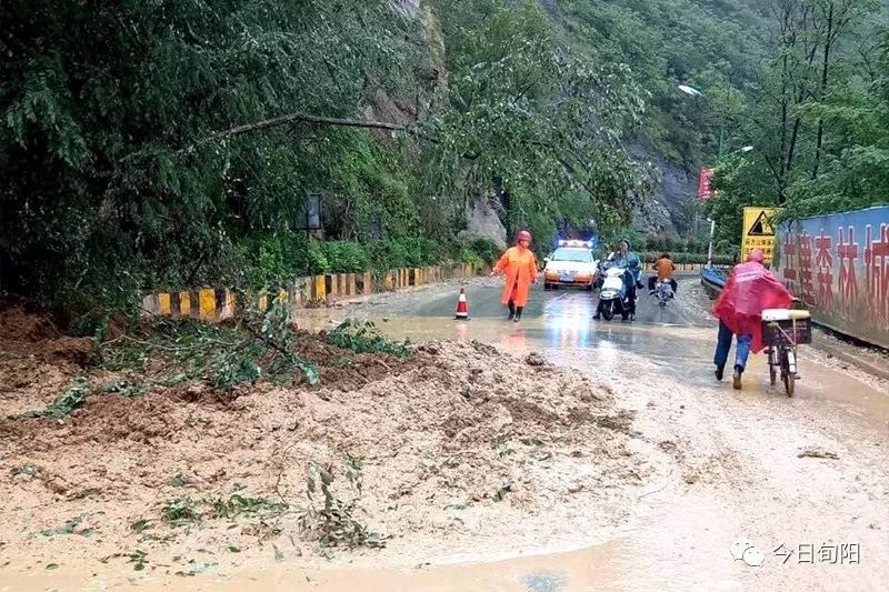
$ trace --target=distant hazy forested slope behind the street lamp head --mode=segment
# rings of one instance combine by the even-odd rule
[[[630,64],[650,93],[643,134],[689,169],[712,162],[720,128],[740,123],[766,52],[770,0],[566,0],[576,43]],[[692,99],[678,90],[703,92]]]

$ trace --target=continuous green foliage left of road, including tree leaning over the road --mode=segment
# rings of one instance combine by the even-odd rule
[[[642,113],[627,68],[559,42],[535,2],[432,7],[413,18],[384,0],[3,2],[2,287],[89,305],[147,287],[431,262],[436,249],[403,240],[301,240],[310,191],[334,239],[438,244],[498,184],[513,225],[545,234],[597,208],[626,223],[627,192],[646,184],[620,143]],[[260,123],[293,112],[410,130]],[[466,249],[437,252],[478,259]]]

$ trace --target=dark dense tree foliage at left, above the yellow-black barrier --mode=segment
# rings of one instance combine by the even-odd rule
[[[233,280],[233,244],[286,232],[309,190],[377,197],[398,230],[416,230],[398,213],[411,208],[397,159],[363,131],[206,141],[412,92],[419,24],[388,2],[10,0],[0,21],[4,288],[122,301]],[[367,215],[350,209],[343,234]]]

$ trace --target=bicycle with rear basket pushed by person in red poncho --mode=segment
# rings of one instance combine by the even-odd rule
[[[801,307],[799,300],[795,307]],[[797,345],[812,342],[811,314],[801,308],[762,311],[762,341],[768,347],[769,383],[775,387],[780,375],[788,397],[793,397],[799,379]]]

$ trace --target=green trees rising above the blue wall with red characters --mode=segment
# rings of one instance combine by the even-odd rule
[[[718,167],[719,240],[737,244],[740,209],[785,218],[889,202],[889,37],[877,0],[776,0],[767,60],[741,112],[753,150]]]

